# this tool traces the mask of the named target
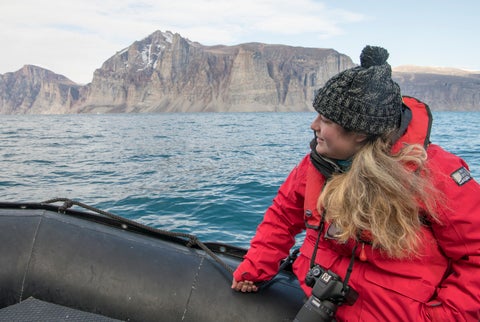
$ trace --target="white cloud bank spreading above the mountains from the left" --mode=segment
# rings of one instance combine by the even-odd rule
[[[335,37],[344,24],[364,19],[315,0],[16,0],[0,11],[0,73],[34,64],[84,83],[115,52],[155,30],[204,45],[305,46],[301,37]]]

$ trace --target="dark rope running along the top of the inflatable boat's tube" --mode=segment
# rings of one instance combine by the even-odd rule
[[[68,208],[71,208],[75,205],[75,206],[79,206],[79,207],[88,209],[90,211],[99,213],[101,215],[107,216],[109,218],[115,219],[115,220],[117,220],[117,221],[119,221],[123,224],[131,225],[131,226],[138,227],[138,228],[141,228],[141,229],[145,229],[149,232],[153,232],[153,233],[161,234],[161,235],[166,235],[166,236],[171,236],[171,237],[186,238],[186,239],[188,239],[188,243],[186,245],[187,247],[192,247],[194,245],[197,245],[202,250],[204,250],[205,253],[207,253],[210,257],[212,257],[218,264],[220,264],[223,268],[225,268],[229,273],[233,274],[233,269],[230,266],[228,266],[227,264],[225,264],[220,257],[218,257],[211,249],[209,249],[195,235],[191,235],[191,234],[187,234],[187,233],[180,233],[180,232],[172,232],[172,231],[168,231],[168,230],[163,230],[163,229],[150,227],[150,226],[138,223],[136,221],[127,219],[125,217],[121,217],[121,216],[112,214],[110,212],[107,212],[107,211],[104,211],[104,210],[101,210],[101,209],[97,209],[95,207],[92,207],[92,206],[89,206],[87,204],[84,204],[84,203],[81,203],[81,202],[78,202],[78,201],[75,201],[75,200],[71,200],[71,199],[68,199],[68,198],[53,198],[53,199],[43,201],[41,203],[42,204],[52,204],[52,203],[57,203],[57,202],[63,202],[63,205],[58,207],[58,211],[61,212],[61,213],[65,213],[65,211]],[[123,228],[127,228],[127,227],[123,227]]]

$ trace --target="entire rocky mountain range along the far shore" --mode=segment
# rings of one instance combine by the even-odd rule
[[[312,111],[314,91],[355,66],[333,49],[204,46],[156,31],[79,85],[26,65],[0,75],[0,114]],[[480,110],[480,75],[403,67],[394,79],[432,109]]]

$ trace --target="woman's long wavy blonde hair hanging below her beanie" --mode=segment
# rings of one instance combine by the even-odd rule
[[[419,144],[391,153],[389,136],[370,140],[355,154],[348,171],[333,175],[318,207],[345,242],[368,231],[374,248],[389,257],[418,255],[421,212],[438,221],[438,193],[425,167],[427,153]]]

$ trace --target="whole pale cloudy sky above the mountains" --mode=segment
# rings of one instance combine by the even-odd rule
[[[0,74],[36,65],[89,83],[116,52],[153,32],[202,45],[365,45],[393,67],[480,71],[478,0],[0,0]]]

